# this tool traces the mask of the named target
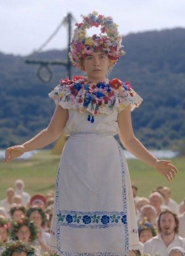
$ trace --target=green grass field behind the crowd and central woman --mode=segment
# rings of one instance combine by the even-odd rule
[[[14,187],[16,179],[24,180],[25,191],[31,195],[35,193],[45,194],[49,190],[54,190],[59,161],[60,155],[50,155],[50,150],[40,150],[29,160],[14,159],[8,164],[1,160],[0,200],[5,198],[7,188]],[[168,182],[154,168],[140,160],[127,160],[131,181],[139,188],[138,196],[148,197],[151,190],[162,185],[171,188],[172,198],[178,203],[183,200],[185,196],[185,158],[173,158],[171,161],[179,173],[175,180]]]

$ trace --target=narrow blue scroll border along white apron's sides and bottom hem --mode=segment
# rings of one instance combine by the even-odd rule
[[[117,142],[117,141],[116,141]],[[123,211],[124,214],[127,215],[127,200],[126,200],[126,184],[125,184],[125,170],[124,170],[124,163],[123,163],[123,155],[122,155],[122,148],[120,147],[119,143],[118,145],[118,153],[120,157],[120,164],[121,164],[121,174],[122,174],[122,193],[123,193]],[[59,202],[58,202],[58,182],[59,182],[59,174],[60,174],[60,164],[57,172],[57,179],[56,179],[56,188],[55,188],[55,195],[56,195],[56,210],[59,211]],[[119,254],[119,256],[126,256],[129,252],[129,235],[128,235],[128,225],[125,223],[124,225],[125,229],[125,252]],[[65,252],[61,251],[61,240],[60,240],[60,223],[58,220],[56,221],[56,237],[57,237],[57,251],[60,252],[63,255],[68,256],[118,256],[117,253],[114,252],[82,252],[82,253],[76,253],[76,252]]]

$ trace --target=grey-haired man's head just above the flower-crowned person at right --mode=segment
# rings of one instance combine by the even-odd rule
[[[154,227],[157,227],[157,210],[152,205],[144,205],[140,210],[139,221],[143,221],[144,217],[147,217],[148,222],[150,222]]]

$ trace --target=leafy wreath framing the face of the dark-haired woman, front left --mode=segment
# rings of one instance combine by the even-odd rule
[[[38,229],[37,229],[37,226],[35,225],[34,221],[29,220],[28,217],[23,217],[23,218],[21,218],[21,220],[12,221],[12,223],[11,223],[11,227],[12,227],[11,238],[13,240],[18,240],[16,233],[24,225],[28,226],[30,229],[30,233],[31,233],[30,241],[31,242],[34,241],[38,237]]]

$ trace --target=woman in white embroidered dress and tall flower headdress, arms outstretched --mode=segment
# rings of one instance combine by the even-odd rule
[[[139,249],[132,187],[124,147],[168,180],[177,173],[158,160],[133,133],[131,114],[142,98],[129,82],[106,74],[124,51],[118,25],[96,11],[76,24],[69,57],[86,76],[61,79],[49,93],[56,103],[49,126],[31,140],[6,149],[5,162],[69,137],[61,155],[55,189],[50,248],[59,255],[127,255]],[[99,35],[86,29],[101,26]],[[105,35],[103,35],[105,34]]]

